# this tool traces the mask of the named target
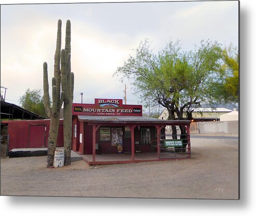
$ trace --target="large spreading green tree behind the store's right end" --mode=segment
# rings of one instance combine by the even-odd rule
[[[170,42],[157,55],[145,40],[130,56],[116,75],[131,79],[136,95],[144,106],[162,105],[169,113],[169,120],[192,119],[192,112],[208,100],[208,84],[219,68],[221,49],[217,42],[202,41],[190,52],[182,52],[179,42]],[[114,74],[114,75],[115,75]],[[180,127],[181,133],[186,130]],[[176,139],[176,127],[172,126]]]

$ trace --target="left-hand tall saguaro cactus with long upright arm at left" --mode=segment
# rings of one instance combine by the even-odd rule
[[[50,117],[50,129],[48,137],[47,167],[53,165],[54,153],[57,145],[60,124],[60,109],[64,99],[61,91],[60,53],[61,53],[61,20],[58,20],[57,43],[55,51],[54,77],[52,77],[52,106],[50,106],[47,63],[44,62],[44,106]]]

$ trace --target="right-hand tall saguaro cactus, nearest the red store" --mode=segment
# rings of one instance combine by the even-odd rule
[[[61,50],[61,88],[64,91],[64,165],[71,164],[72,105],[74,92],[74,73],[71,72],[71,23],[66,21],[65,49]]]

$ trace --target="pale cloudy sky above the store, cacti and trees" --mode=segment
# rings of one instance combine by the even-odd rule
[[[57,22],[71,20],[71,62],[75,74],[74,103],[94,98],[123,99],[140,104],[128,80],[113,77],[149,38],[154,51],[180,40],[191,50],[202,39],[238,45],[238,1],[146,2],[1,5],[1,86],[6,101],[19,104],[27,88],[43,89],[43,62],[53,76]],[[4,89],[1,88],[1,91]]]

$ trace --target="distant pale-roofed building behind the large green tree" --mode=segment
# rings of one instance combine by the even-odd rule
[[[196,108],[194,112],[192,112],[192,122],[219,121],[221,115],[231,112],[232,110],[228,110],[226,108]],[[164,111],[160,114],[159,119],[168,119],[168,116],[169,113],[167,109],[164,109]],[[183,114],[183,117],[186,117],[185,113]]]

